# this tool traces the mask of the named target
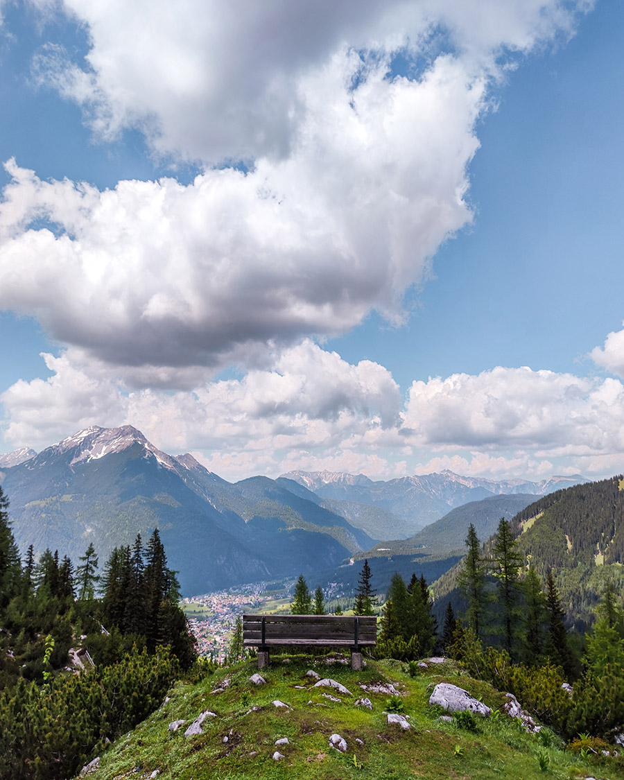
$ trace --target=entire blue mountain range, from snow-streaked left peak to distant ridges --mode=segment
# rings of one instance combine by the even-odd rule
[[[520,487],[532,494],[566,481],[498,483],[444,472],[374,482],[292,472],[232,484],[189,454],[161,452],[129,425],[89,427],[39,453],[0,456],[0,484],[22,552],[33,544],[36,555],[58,549],[77,562],[92,542],[102,566],[114,547],[158,527],[186,595],[300,573],[331,579],[378,541],[409,537],[423,517],[437,520],[450,506],[484,495],[517,494]],[[424,507],[424,516],[410,502]],[[435,570],[449,566],[438,562]]]

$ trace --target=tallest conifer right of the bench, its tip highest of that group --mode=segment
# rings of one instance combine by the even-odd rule
[[[498,583],[498,603],[502,610],[502,633],[505,650],[514,658],[516,655],[516,625],[520,615],[519,570],[523,557],[516,549],[509,521],[501,518],[492,548],[494,574]]]

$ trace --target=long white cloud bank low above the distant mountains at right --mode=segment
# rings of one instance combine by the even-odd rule
[[[413,382],[406,438],[421,445],[532,449],[544,456],[624,451],[624,386],[497,367]]]

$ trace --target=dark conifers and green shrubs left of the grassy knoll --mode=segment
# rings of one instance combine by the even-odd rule
[[[99,569],[30,546],[20,557],[0,488],[0,777],[72,776],[154,711],[196,659],[176,574],[154,529]]]

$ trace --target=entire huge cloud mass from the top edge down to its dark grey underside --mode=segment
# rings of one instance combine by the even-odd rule
[[[568,32],[587,5],[67,0],[87,63],[48,46],[41,78],[101,137],[139,127],[163,154],[222,167],[100,192],[9,162],[0,306],[146,376],[266,366],[371,309],[401,321],[406,289],[470,222],[466,166],[502,52]],[[409,78],[392,76],[396,54]],[[223,167],[241,158],[246,173]]]

